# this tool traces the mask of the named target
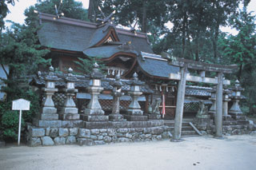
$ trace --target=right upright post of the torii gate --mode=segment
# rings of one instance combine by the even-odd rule
[[[218,73],[218,85],[216,89],[216,137],[222,138],[222,97],[223,97],[223,73]]]

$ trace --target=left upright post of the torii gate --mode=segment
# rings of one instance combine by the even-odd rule
[[[178,94],[174,122],[174,141],[180,140],[182,135],[182,117],[186,90],[186,70],[186,66],[181,68],[181,80],[178,81]]]

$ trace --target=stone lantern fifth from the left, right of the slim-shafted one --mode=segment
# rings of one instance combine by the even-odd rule
[[[132,80],[127,82],[127,84],[130,84],[128,94],[132,98],[132,101],[126,110],[125,118],[127,121],[147,121],[147,116],[143,116],[143,111],[138,103],[138,97],[142,95],[141,85],[144,85],[144,82],[138,80],[138,74],[135,72]]]

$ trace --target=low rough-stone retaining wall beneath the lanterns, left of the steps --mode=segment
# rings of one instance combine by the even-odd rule
[[[168,126],[150,128],[35,128],[28,125],[29,146],[58,144],[94,145],[115,142],[162,140],[168,137]]]

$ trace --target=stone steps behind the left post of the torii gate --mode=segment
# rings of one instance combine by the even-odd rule
[[[198,136],[198,133],[194,131],[189,122],[190,120],[182,122],[182,136]],[[170,127],[170,132],[174,133],[174,120],[165,120],[164,125]]]

